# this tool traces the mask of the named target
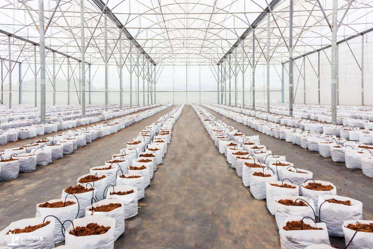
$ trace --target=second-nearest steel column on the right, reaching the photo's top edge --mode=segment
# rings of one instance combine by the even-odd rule
[[[289,115],[293,116],[293,0],[289,9]]]

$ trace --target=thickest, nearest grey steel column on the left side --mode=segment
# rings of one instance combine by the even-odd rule
[[[40,121],[46,121],[46,44],[44,35],[44,0],[39,0],[40,35]]]

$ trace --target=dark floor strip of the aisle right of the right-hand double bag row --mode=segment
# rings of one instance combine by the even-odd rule
[[[363,219],[373,220],[373,178],[363,175],[359,169],[348,169],[344,163],[333,162],[331,158],[323,158],[318,152],[311,152],[285,140],[267,136],[211,109],[208,110],[226,124],[232,125],[248,136],[259,135],[261,144],[272,150],[273,154],[285,155],[286,161],[294,163],[299,168],[312,171],[315,180],[333,183],[337,187],[338,195],[360,200],[363,202]],[[342,238],[330,237],[330,242],[339,248],[345,247]]]

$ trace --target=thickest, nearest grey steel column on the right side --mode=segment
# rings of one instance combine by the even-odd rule
[[[332,123],[337,123],[337,25],[338,0],[333,0],[332,12]]]

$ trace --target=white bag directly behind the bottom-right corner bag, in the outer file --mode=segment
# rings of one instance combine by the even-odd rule
[[[336,199],[339,201],[350,200],[351,206],[329,203],[326,201],[329,199]],[[325,222],[330,236],[343,237],[342,225],[345,220],[363,219],[363,203],[358,200],[335,194],[325,194],[319,196],[318,202],[319,219]]]

